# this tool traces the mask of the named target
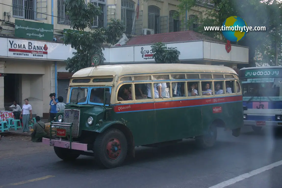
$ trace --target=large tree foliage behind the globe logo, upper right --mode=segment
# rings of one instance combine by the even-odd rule
[[[204,26],[222,26],[222,23],[226,18],[230,16],[242,17],[247,26],[266,26],[266,31],[251,31],[246,34],[241,41],[238,41],[236,45],[242,45],[249,47],[249,66],[255,66],[256,52],[261,52],[265,56],[265,60],[269,61],[271,55],[274,52],[274,48],[270,47],[271,41],[281,41],[281,16],[282,9],[279,1],[273,0],[179,0],[178,6],[179,13],[184,14],[186,10],[191,10],[194,6],[204,4],[207,10],[202,10],[203,18],[200,15],[196,15],[196,19],[202,23],[196,32],[201,34],[215,37],[220,39],[222,33],[219,31],[205,31]],[[207,3],[212,3],[214,6],[210,6]],[[201,11],[201,10],[199,10]],[[189,24],[189,22],[188,22]],[[271,51],[271,53],[270,53]],[[268,57],[264,52],[269,52]]]

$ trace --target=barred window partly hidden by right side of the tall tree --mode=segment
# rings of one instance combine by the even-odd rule
[[[106,18],[107,18],[106,0],[90,0],[90,3],[96,6],[100,6],[102,10],[102,13],[94,18],[94,23],[92,25],[92,28],[106,27]]]

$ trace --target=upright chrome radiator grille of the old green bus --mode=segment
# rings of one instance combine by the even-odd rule
[[[80,110],[65,109],[64,123],[73,123],[72,124],[72,136],[78,136],[79,119],[80,119]],[[70,128],[69,127],[64,127],[64,128],[67,131],[67,135],[70,135]]]

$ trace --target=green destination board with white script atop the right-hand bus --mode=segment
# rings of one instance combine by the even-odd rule
[[[266,68],[245,70],[240,75],[241,78],[275,78],[282,77],[282,69]]]

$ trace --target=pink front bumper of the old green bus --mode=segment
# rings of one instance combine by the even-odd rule
[[[62,147],[62,148],[70,148],[70,142],[69,141],[60,141],[60,140],[51,140],[48,138],[42,138],[42,143],[50,146],[56,146],[56,147]],[[81,151],[87,151],[87,144],[82,143],[71,143],[71,149],[81,150]]]

